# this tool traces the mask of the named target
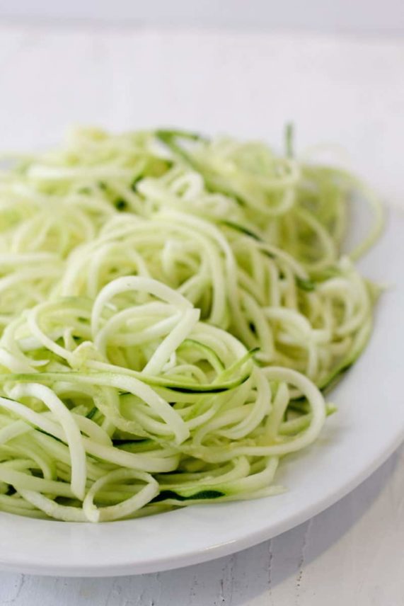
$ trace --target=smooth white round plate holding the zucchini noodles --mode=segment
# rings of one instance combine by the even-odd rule
[[[92,525],[0,514],[0,568],[66,576],[112,576],[196,564],[250,547],[304,522],[345,496],[404,438],[404,215],[362,263],[396,286],[383,295],[369,348],[333,393],[340,411],[320,440],[284,459],[289,491],[240,503],[200,505]]]

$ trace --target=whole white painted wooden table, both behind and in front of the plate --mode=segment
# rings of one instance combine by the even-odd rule
[[[400,204],[403,72],[400,40],[0,24],[1,148],[45,147],[71,122],[280,144],[293,119],[301,148],[343,146]],[[0,606],[401,606],[403,459],[401,449],[332,508],[239,554],[123,578],[0,573]]]

